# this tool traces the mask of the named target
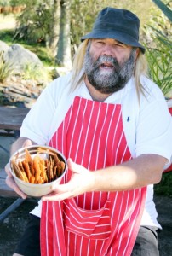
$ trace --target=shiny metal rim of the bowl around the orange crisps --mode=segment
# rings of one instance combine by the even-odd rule
[[[50,182],[50,183],[42,183],[42,184],[34,184],[34,183],[26,183],[25,181],[21,180],[19,177],[17,177],[15,174],[14,174],[14,171],[12,170],[12,167],[11,167],[11,162],[12,162],[12,159],[14,158],[14,156],[16,154],[20,154],[22,151],[25,151],[27,148],[46,148],[46,149],[51,149],[52,151],[54,151],[55,153],[57,154],[60,154],[60,157],[64,160],[65,162],[65,170],[64,172],[62,173],[62,175],[56,179],[54,179],[54,181]],[[12,174],[12,176],[14,177],[14,179],[16,179],[19,183],[22,183],[23,185],[27,186],[27,187],[31,187],[32,188],[37,188],[38,186],[40,186],[41,188],[43,187],[47,187],[49,185],[51,185],[52,183],[54,182],[57,182],[58,180],[62,179],[62,177],[65,176],[66,172],[67,172],[67,161],[66,161],[66,157],[64,154],[62,154],[58,149],[56,148],[53,148],[53,147],[50,147],[50,146],[45,146],[45,145],[40,145],[40,144],[35,144],[35,145],[31,145],[31,146],[27,146],[27,147],[24,147],[24,148],[20,148],[18,150],[16,150],[14,152],[14,154],[11,155],[11,157],[9,158],[9,172]]]

